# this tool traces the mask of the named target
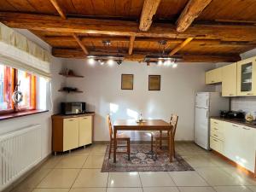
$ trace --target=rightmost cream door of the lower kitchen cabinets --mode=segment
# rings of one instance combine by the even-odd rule
[[[239,164],[244,166],[251,172],[254,172],[255,166],[255,137],[256,130],[251,127],[242,126],[242,135],[241,135],[241,154]]]

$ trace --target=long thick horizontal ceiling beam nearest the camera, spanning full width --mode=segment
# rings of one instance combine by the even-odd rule
[[[207,38],[224,41],[255,41],[256,26],[234,26],[214,24],[193,24],[179,33],[170,24],[153,23],[148,32],[140,32],[137,22],[123,20],[95,20],[67,18],[61,20],[53,15],[27,15],[0,12],[0,21],[10,27],[48,32],[95,33],[137,38]]]

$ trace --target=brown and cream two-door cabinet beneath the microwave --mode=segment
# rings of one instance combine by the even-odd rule
[[[52,116],[54,152],[64,152],[92,143],[94,113]]]

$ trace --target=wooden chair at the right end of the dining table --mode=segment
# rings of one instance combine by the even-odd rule
[[[174,138],[175,138],[175,133],[176,133],[176,129],[177,129],[177,119],[178,119],[178,116],[176,114],[172,114],[171,120],[170,120],[170,125],[173,126],[173,129],[172,129],[173,152],[172,153],[173,153],[174,156],[175,156]],[[151,150],[153,151],[153,148],[155,146],[156,154],[160,153],[162,151],[162,141],[168,141],[169,140],[169,135],[170,135],[170,131],[167,131],[167,132],[162,132],[162,131],[160,131],[160,132],[152,132],[151,133]],[[171,148],[169,142],[167,142],[167,143],[168,143],[168,148]]]

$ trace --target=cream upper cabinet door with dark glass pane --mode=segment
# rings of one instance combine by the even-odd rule
[[[256,96],[256,57],[237,62],[237,96]]]

